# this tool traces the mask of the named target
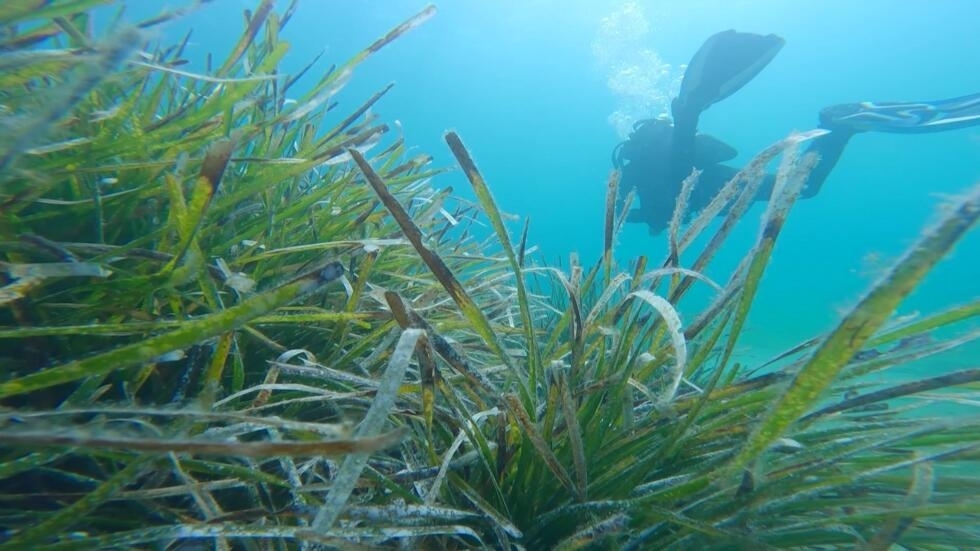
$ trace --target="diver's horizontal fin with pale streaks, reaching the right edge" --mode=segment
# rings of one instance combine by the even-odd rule
[[[861,102],[820,111],[820,126],[851,132],[919,134],[980,125],[980,93],[938,101]]]

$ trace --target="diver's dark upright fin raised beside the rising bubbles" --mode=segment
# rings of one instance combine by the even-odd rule
[[[690,137],[701,112],[745,86],[779,53],[785,41],[774,34],[727,30],[701,45],[684,71],[677,98],[671,103],[674,126]]]

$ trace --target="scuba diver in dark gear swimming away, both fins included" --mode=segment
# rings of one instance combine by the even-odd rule
[[[738,155],[724,142],[699,134],[701,113],[745,86],[783,47],[774,34],[723,31],[698,49],[684,72],[680,93],[671,102],[673,121],[646,119],[633,126],[630,137],[613,150],[620,170],[620,190],[635,189],[639,208],[627,222],[645,222],[650,234],[670,222],[681,184],[693,169],[701,170],[688,202],[694,213],[711,202],[739,169],[723,164]],[[940,132],[980,124],[980,94],[940,101],[862,102],[834,105],[820,111],[820,128],[830,132],[808,142],[807,152],[819,155],[807,178],[802,197],[813,197],[837,164],[848,140],[860,132]],[[772,189],[767,176],[757,199]],[[622,196],[620,197],[622,199]]]

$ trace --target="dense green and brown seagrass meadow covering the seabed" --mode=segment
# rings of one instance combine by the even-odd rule
[[[662,261],[616,262],[612,174],[602,258],[548,266],[460,136],[475,202],[372,114],[390,87],[334,100],[434,7],[284,74],[295,2],[185,70],[154,30],[203,4],[93,30],[116,2],[0,3],[0,549],[980,548],[980,366],[943,359],[980,301],[892,319],[980,188],[745,366],[813,132],[684,225],[689,178]],[[755,243],[701,275],[771,162]]]

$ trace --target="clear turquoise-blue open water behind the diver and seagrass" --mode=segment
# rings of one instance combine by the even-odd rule
[[[136,11],[149,9],[142,1],[131,4]],[[221,59],[239,36],[242,9],[255,4],[215,2],[168,32],[176,37],[194,27],[187,56],[199,63],[212,51]],[[341,111],[395,82],[374,110],[388,122],[398,120],[408,144],[434,155],[435,165],[450,166],[442,137],[456,130],[503,210],[531,219],[530,240],[543,259],[557,262],[577,252],[583,262],[594,262],[602,245],[609,155],[620,139],[608,118],[624,101],[610,88],[608,66],[597,59],[594,44],[603,38],[603,18],[627,4],[440,2],[433,19],[357,69],[337,97]],[[648,27],[637,43],[675,71],[720,30],[786,39],[753,82],[702,117],[701,131],[736,147],[743,162],[792,130],[814,127],[827,105],[980,91],[980,6],[974,0],[634,4],[630,13]],[[293,45],[284,69],[295,70],[320,51],[328,60],[321,69],[342,62],[423,6],[420,0],[304,0],[283,33]],[[856,137],[821,193],[790,216],[743,339],[743,356],[763,358],[829,329],[934,219],[943,197],[978,181],[980,128]],[[458,171],[435,185],[469,193]],[[724,282],[756,231],[743,225],[710,275]],[[663,237],[648,235],[642,225],[620,235],[624,263],[640,254],[658,263],[664,252]],[[975,232],[899,313],[929,313],[976,298],[978,252]],[[967,349],[930,369],[966,367],[976,352]]]

